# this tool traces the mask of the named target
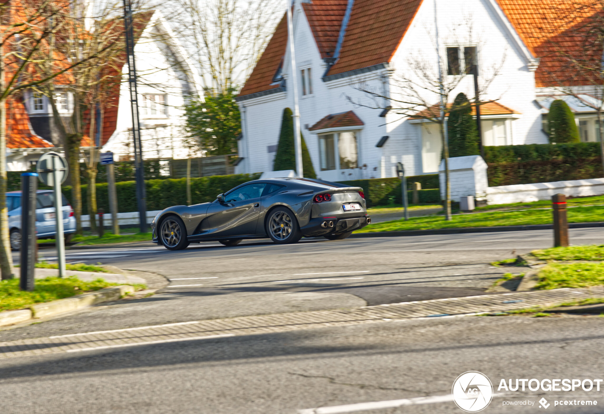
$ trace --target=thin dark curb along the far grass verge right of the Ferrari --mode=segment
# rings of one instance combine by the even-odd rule
[[[604,222],[570,223],[568,228],[604,227]],[[374,233],[353,233],[352,237],[400,237],[400,236],[428,236],[431,234],[460,234],[460,233],[493,233],[496,231],[524,231],[524,230],[553,230],[553,224],[532,224],[525,226],[500,226],[500,227],[460,227],[437,228],[434,230],[401,230],[401,231],[376,231]]]

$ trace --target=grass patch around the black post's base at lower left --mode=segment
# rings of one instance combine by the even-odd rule
[[[19,279],[0,281],[0,310],[25,309],[36,303],[50,302],[57,299],[69,298],[91,290],[115,286],[101,278],[93,281],[82,281],[77,277],[47,277],[36,279],[33,292],[19,290]],[[77,289],[76,289],[77,288]]]

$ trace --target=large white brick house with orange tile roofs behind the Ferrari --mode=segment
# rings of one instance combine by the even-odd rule
[[[528,3],[295,0],[297,67],[290,65],[283,19],[237,97],[243,130],[237,172],[272,170],[283,108],[293,108],[289,82],[295,70],[302,132],[318,177],[394,177],[397,162],[408,175],[437,173],[437,124],[379,108],[409,99],[401,95],[402,78],[421,86],[425,71],[437,80],[439,56],[445,82],[460,80],[451,101],[459,92],[474,98],[473,77],[464,72],[477,64],[481,100],[495,101],[481,113],[484,145],[548,143],[544,105],[537,101],[537,87],[545,86],[536,84],[538,40],[530,33],[531,13],[538,11]],[[374,102],[359,85],[387,98]],[[429,91],[422,98],[439,101]]]

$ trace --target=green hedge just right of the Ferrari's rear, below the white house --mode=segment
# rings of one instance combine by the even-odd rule
[[[422,184],[422,190],[419,192],[420,202],[440,202],[438,174],[407,177],[408,188],[411,188],[411,183],[414,182]],[[339,183],[350,187],[361,187],[365,192],[367,207],[389,205],[393,203],[402,204],[399,178],[373,178],[372,180],[339,181]],[[410,202],[412,199],[411,194],[412,192],[410,191]]]

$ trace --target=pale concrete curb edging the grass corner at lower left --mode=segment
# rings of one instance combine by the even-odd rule
[[[18,324],[33,318],[45,318],[46,316],[58,315],[59,313],[71,312],[101,302],[114,301],[126,293],[134,292],[134,288],[128,285],[106,287],[97,292],[84,293],[73,298],[59,299],[48,303],[39,303],[30,309],[8,310],[0,312],[0,326]]]

